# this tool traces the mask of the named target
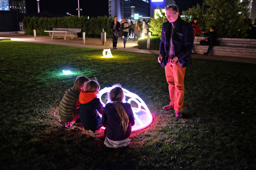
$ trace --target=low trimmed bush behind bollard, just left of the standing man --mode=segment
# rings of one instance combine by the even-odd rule
[[[159,36],[151,36],[150,37],[150,50],[159,50],[159,44],[160,44],[160,37]],[[144,39],[139,38],[138,39],[138,48],[147,50],[147,37]]]

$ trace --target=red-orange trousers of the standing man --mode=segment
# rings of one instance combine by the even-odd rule
[[[184,100],[184,76],[186,68],[180,64],[174,65],[167,63],[165,66],[165,76],[169,84],[170,105],[174,106],[175,111],[182,111]]]

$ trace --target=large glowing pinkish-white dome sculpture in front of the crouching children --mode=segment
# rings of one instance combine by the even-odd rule
[[[114,86],[105,87],[99,91],[98,98],[101,100],[101,103],[103,104],[104,107],[107,103],[110,102],[110,100],[108,99],[108,101],[106,101],[106,99],[104,98],[103,101],[105,102],[102,102],[102,95],[109,93],[110,90],[112,90],[112,88],[114,88]],[[144,101],[138,95],[132,92],[129,92],[124,88],[122,89],[124,91],[125,99],[128,99],[127,101],[124,99],[123,103],[127,102],[127,103],[130,103],[132,106],[133,116],[135,119],[135,125],[132,126],[132,131],[137,131],[137,130],[141,130],[148,127],[152,123],[153,117],[149,109],[147,108],[146,104],[144,103]],[[138,107],[133,106],[135,105],[135,103],[138,105]],[[142,107],[144,109],[142,109]],[[105,129],[105,127],[102,127],[102,129]]]

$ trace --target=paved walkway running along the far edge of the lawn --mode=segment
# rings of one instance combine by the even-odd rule
[[[84,48],[96,48],[96,49],[112,49],[112,39],[107,39],[102,45],[100,38],[87,38],[86,44],[83,44],[82,37],[74,37],[74,39],[66,39],[64,37],[53,38],[50,36],[37,36],[34,39],[33,35],[23,35],[21,33],[2,33],[0,32],[0,40],[11,39],[12,41],[22,41],[29,43],[42,43],[42,44],[52,44],[52,45],[61,45],[61,46],[71,46],[71,47],[84,47]],[[137,41],[133,39],[128,39],[126,46],[124,48],[123,40],[118,39],[117,51],[126,51],[126,52],[138,52],[144,54],[159,54],[158,50],[142,50],[138,49]],[[256,58],[244,58],[244,57],[232,57],[232,56],[217,56],[217,55],[202,55],[202,54],[192,54],[192,58],[197,59],[210,59],[210,60],[222,60],[230,62],[240,62],[240,63],[253,63],[256,64]]]

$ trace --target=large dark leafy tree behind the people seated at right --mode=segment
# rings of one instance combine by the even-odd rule
[[[205,31],[214,26],[218,37],[245,38],[252,22],[249,3],[250,0],[205,0],[202,7],[197,4],[182,14],[198,17],[198,24]],[[189,17],[185,20],[189,21]]]

